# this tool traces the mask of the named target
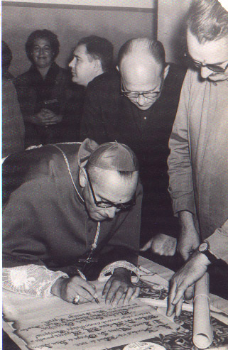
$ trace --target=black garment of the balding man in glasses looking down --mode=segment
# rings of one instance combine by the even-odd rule
[[[104,73],[87,87],[80,138],[97,143],[118,141],[138,156],[143,184],[142,234],[176,236],[168,195],[168,139],[178,109],[186,70],[170,64],[159,99],[146,111],[121,96],[118,72]]]

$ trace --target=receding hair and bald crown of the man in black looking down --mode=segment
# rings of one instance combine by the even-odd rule
[[[165,68],[165,49],[161,41],[150,38],[132,38],[121,46],[118,53],[118,65],[125,55],[133,53],[135,50],[147,51],[151,56]]]

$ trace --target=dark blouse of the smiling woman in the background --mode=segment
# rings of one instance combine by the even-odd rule
[[[43,80],[36,66],[31,65],[14,84],[26,126],[26,146],[77,141],[84,89],[71,82],[70,72],[53,62]],[[42,108],[62,114],[63,120],[51,126],[31,123],[30,116]]]

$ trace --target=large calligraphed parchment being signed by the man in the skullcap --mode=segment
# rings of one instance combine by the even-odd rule
[[[144,260],[146,261],[146,259]],[[160,273],[160,270],[164,269],[163,272],[167,274],[167,269],[158,266],[158,264],[151,261],[148,261],[148,264],[152,267],[150,270],[153,273]],[[145,265],[143,264],[143,266]],[[168,283],[158,275],[148,275],[148,278],[145,279],[153,287],[151,294],[147,294],[150,297],[154,297],[153,294],[156,294],[155,292],[157,291],[157,294],[160,295],[157,296],[163,299]],[[169,320],[164,315],[159,315],[154,308],[148,305],[134,302],[128,308],[118,307],[116,309],[105,306],[104,301],[102,301],[104,283],[96,282],[94,284],[96,285],[97,294],[101,301],[100,305],[97,305],[95,302],[89,302],[85,305],[72,305],[54,296],[37,298],[17,295],[16,293],[4,290],[3,305],[4,319],[6,321],[4,322],[4,329],[13,341],[20,346],[20,349],[23,350],[99,350],[105,349],[105,347],[110,349],[113,346],[120,346],[121,344],[153,339],[154,337],[158,337],[158,334],[167,334],[169,337],[168,334],[174,333],[173,335],[175,336],[180,326],[173,324],[172,320]],[[159,290],[158,287],[160,288]],[[82,323],[84,321],[80,318],[82,314],[86,315],[86,317],[84,315],[84,319],[86,318],[85,324]],[[124,322],[124,324],[121,322]],[[15,333],[11,332],[11,324],[14,329],[17,329],[14,331]],[[82,326],[89,327],[89,329],[86,327],[82,328]],[[136,332],[134,332],[135,329]],[[68,334],[66,334],[67,332]],[[81,333],[77,336],[77,332]],[[81,344],[80,341],[83,341],[85,334],[90,339],[90,344],[82,345],[85,346],[83,348],[79,344]],[[116,339],[114,339],[115,337]],[[29,343],[29,347],[25,345],[26,342],[23,339]],[[61,342],[49,344],[51,341],[55,343],[58,341]],[[65,344],[65,341],[69,341],[69,344]],[[77,341],[78,344],[75,345],[73,341]]]

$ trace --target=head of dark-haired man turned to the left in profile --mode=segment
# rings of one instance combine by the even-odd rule
[[[73,55],[69,63],[72,82],[84,87],[95,77],[112,70],[113,45],[106,38],[89,35],[80,39]]]

